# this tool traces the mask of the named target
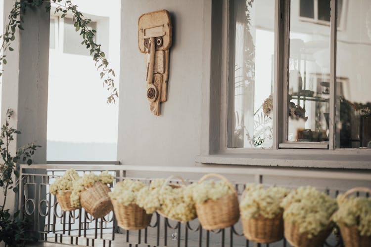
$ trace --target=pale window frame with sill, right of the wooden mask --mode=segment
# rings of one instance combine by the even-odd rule
[[[336,84],[336,16],[337,0],[331,0],[331,57],[330,57],[330,133],[335,135],[335,92]],[[279,109],[287,103],[288,86],[288,44],[290,0],[275,0],[275,74],[274,74],[274,133],[271,149],[228,148],[228,67],[229,67],[229,1],[205,1],[203,26],[203,83],[201,148],[196,163],[230,165],[274,165],[323,168],[371,168],[371,149],[336,148],[330,138],[328,149],[318,149],[316,143],[297,145],[285,142],[287,111]],[[344,9],[344,7],[343,7]],[[222,18],[220,18],[222,16]],[[211,27],[211,28],[210,28]],[[221,52],[222,51],[222,52]],[[286,87],[285,87],[286,85]],[[283,127],[283,130],[281,126]],[[286,130],[287,131],[287,130]],[[285,143],[285,144],[283,144]],[[281,144],[281,147],[279,146]],[[285,148],[283,148],[285,146]],[[304,149],[311,148],[311,149]]]

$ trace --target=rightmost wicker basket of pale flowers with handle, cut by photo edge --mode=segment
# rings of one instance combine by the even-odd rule
[[[371,247],[371,198],[349,197],[354,192],[369,192],[369,188],[353,188],[337,197],[339,209],[332,215],[339,225],[346,247]]]

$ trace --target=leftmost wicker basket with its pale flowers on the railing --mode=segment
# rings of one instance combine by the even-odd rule
[[[79,174],[77,174],[74,169],[70,169],[67,170],[62,177],[55,179],[55,182],[49,186],[49,192],[55,195],[63,211],[72,211],[80,208],[80,205],[73,205],[73,203],[71,203],[73,181],[79,178]]]

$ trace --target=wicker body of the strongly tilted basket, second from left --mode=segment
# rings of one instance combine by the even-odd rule
[[[94,218],[104,217],[112,211],[112,203],[108,197],[111,190],[106,184],[98,181],[92,187],[86,188],[80,194],[80,204]]]

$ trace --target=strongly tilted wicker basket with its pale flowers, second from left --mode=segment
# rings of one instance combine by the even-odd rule
[[[81,179],[73,181],[71,193],[72,206],[82,206],[94,218],[104,217],[112,211],[112,203],[108,196],[113,176],[108,171],[96,175],[93,172],[84,174]]]

